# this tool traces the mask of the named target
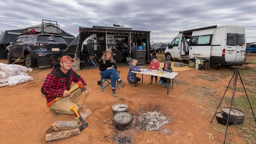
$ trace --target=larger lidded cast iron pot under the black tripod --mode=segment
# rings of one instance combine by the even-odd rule
[[[230,109],[230,107],[223,107],[221,109],[223,118],[226,121],[228,120],[229,109]],[[242,124],[244,119],[245,119],[245,113],[243,111],[231,107],[228,122],[231,122],[233,124]]]

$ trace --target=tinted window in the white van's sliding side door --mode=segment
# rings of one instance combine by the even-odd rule
[[[198,35],[191,37],[191,46],[210,46],[212,35]]]

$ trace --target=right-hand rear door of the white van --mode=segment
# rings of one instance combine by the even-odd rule
[[[236,61],[245,60],[245,29],[236,26]]]

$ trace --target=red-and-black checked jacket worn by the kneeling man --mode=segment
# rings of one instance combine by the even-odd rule
[[[48,74],[41,87],[42,94],[45,95],[47,103],[55,98],[62,97],[64,90],[69,90],[72,81],[78,83],[81,81],[86,86],[85,81],[74,70],[70,69],[68,74],[64,74],[60,69],[60,65],[56,64],[52,68],[52,72]]]

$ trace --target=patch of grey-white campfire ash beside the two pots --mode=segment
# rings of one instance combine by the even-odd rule
[[[159,131],[163,125],[171,122],[171,119],[165,120],[166,117],[158,111],[136,114],[135,119],[135,126],[144,131]]]

